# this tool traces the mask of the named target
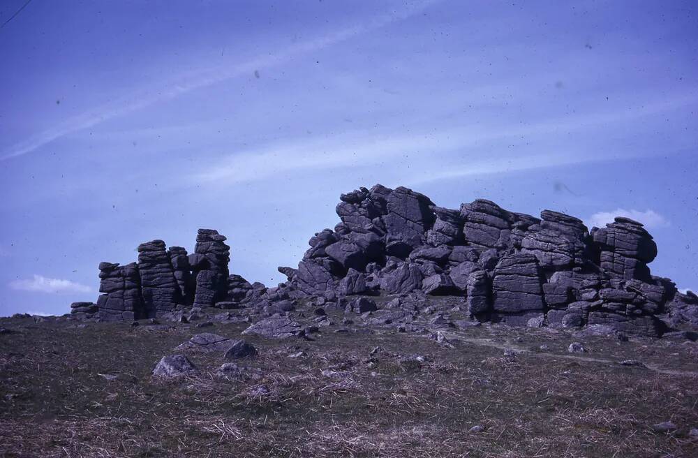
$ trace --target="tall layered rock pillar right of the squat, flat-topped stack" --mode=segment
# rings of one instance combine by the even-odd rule
[[[138,246],[138,271],[145,317],[172,313],[181,302],[181,292],[165,242],[153,240]]]

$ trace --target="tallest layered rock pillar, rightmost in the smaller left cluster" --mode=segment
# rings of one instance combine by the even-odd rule
[[[198,230],[194,262],[191,263],[190,259],[191,267],[196,271],[194,306],[212,306],[227,299],[230,246],[224,242],[225,236],[218,234],[217,230]]]

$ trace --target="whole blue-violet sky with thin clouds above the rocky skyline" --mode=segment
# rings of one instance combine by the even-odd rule
[[[698,289],[698,3],[0,2],[0,316],[228,237],[274,286],[339,195],[627,215]]]

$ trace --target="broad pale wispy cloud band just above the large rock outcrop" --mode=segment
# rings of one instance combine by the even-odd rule
[[[570,147],[556,154],[549,154],[549,152],[522,154],[519,150],[516,154],[506,156],[506,147],[498,149],[505,152],[504,155],[482,154],[482,149],[498,141],[515,142],[521,138],[545,139],[553,133],[562,131],[567,133],[584,131],[599,124],[612,125],[631,121],[648,114],[674,110],[687,103],[684,99],[662,100],[648,103],[637,110],[594,112],[563,120],[542,119],[532,124],[515,127],[510,125],[473,128],[440,126],[410,134],[356,131],[322,138],[285,139],[283,142],[261,145],[223,156],[215,165],[193,172],[190,181],[200,184],[225,180],[226,184],[235,184],[281,176],[285,172],[389,165],[391,169],[404,169],[405,172],[408,168],[419,170],[417,173],[402,174],[403,184],[415,185],[436,179],[612,160],[628,154],[594,155],[581,153]],[[456,160],[445,157],[446,154],[455,152],[458,153]],[[408,177],[408,175],[413,176]]]

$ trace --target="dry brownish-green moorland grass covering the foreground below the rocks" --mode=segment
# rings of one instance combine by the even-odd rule
[[[163,381],[156,362],[193,334],[246,325],[0,325],[13,330],[0,334],[1,457],[698,456],[690,342],[483,326],[445,346],[334,326],[314,341],[246,337],[260,355],[232,379],[216,376],[220,353],[188,351],[200,374]],[[575,340],[588,353],[567,353]],[[631,358],[645,366],[618,364]],[[676,432],[653,431],[667,420]]]

